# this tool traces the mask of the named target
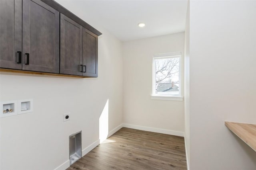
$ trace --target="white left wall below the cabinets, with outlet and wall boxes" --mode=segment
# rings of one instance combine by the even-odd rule
[[[1,170],[53,170],[69,159],[68,137],[82,130],[82,149],[99,139],[108,101],[108,131],[122,123],[122,43],[104,29],[98,78],[1,72],[0,100],[34,99],[33,113],[0,119]],[[107,108],[107,107],[106,107]],[[70,121],[63,114],[70,112]]]

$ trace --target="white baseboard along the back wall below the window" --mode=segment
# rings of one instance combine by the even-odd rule
[[[184,137],[183,132],[171,131],[171,130],[167,130],[167,129],[158,129],[158,128],[154,128],[154,127],[145,127],[145,126],[126,124],[126,123],[123,124],[123,127],[142,130],[142,131],[149,131],[149,132],[156,132],[156,133],[163,133],[163,134],[168,134],[168,135],[175,135],[175,136]]]

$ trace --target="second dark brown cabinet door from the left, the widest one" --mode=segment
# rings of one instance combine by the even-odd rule
[[[23,0],[22,70],[59,73],[60,13],[40,0]]]

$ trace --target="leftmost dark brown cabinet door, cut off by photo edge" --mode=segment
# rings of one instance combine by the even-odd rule
[[[22,69],[22,1],[0,0],[0,67]]]

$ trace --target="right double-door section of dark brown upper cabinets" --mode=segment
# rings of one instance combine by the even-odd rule
[[[60,73],[98,76],[98,36],[60,14]]]

